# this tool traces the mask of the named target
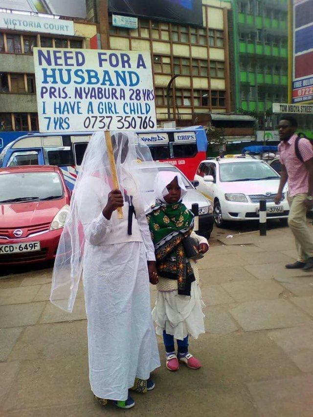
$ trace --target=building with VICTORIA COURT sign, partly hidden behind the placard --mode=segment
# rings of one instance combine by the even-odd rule
[[[0,131],[37,131],[33,47],[97,48],[96,25],[38,14],[0,14]]]

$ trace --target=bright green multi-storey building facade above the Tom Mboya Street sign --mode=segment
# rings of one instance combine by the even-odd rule
[[[232,0],[232,110],[265,112],[288,101],[288,1]],[[264,118],[260,117],[259,127]],[[274,127],[274,117],[268,128]]]

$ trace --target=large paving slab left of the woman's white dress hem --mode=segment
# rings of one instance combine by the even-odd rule
[[[71,355],[23,361],[2,407],[9,411],[92,401],[88,358]]]

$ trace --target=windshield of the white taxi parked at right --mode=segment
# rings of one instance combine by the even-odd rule
[[[220,180],[223,182],[259,181],[277,178],[279,178],[279,175],[265,162],[249,161],[220,164]]]

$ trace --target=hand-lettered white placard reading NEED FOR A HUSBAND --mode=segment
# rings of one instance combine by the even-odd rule
[[[156,128],[149,52],[34,48],[40,132]]]

